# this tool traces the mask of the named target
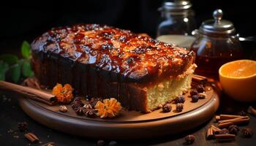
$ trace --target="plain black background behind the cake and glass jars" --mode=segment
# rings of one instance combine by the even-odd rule
[[[163,1],[163,0],[162,0]],[[73,23],[100,23],[125,28],[155,37],[161,0],[109,1],[33,1],[30,4],[5,6],[0,10],[0,53],[15,53],[23,40],[31,42],[52,27]],[[16,3],[15,1],[12,1]],[[192,1],[197,27],[211,19],[214,9],[220,8],[224,18],[234,23],[241,36],[256,34],[256,9],[252,1]]]

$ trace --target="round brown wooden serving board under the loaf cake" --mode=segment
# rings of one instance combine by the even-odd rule
[[[195,128],[209,120],[219,107],[219,96],[210,86],[206,87],[206,99],[191,102],[187,93],[184,110],[151,113],[121,110],[117,118],[86,118],[75,114],[67,105],[68,112],[59,112],[59,105],[49,106],[31,99],[20,99],[21,108],[34,120],[50,128],[81,137],[97,139],[141,139],[178,134]],[[84,101],[86,102],[86,101]]]

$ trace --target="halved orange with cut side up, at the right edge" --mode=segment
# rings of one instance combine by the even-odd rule
[[[256,101],[256,61],[231,61],[219,68],[222,88],[238,101]]]

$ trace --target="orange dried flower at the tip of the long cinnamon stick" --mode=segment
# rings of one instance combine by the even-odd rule
[[[57,83],[53,88],[53,95],[56,96],[59,102],[67,104],[73,99],[73,88],[69,84],[65,84],[64,87]]]

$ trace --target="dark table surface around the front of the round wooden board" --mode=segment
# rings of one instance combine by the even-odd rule
[[[242,104],[232,99],[228,99],[222,95],[220,100],[220,107],[217,111],[219,113],[237,113],[241,110],[246,111],[249,105],[255,105],[255,103]],[[249,125],[241,126],[252,128],[256,133],[256,118],[249,115],[251,120]],[[20,109],[18,104],[18,95],[14,93],[7,93],[0,91],[0,145],[39,145],[29,144],[24,138],[24,132],[18,131],[18,122],[26,121],[29,124],[29,131],[39,137],[40,141],[55,142],[56,145],[96,145],[99,139],[86,139],[83,137],[74,137],[69,134],[63,134],[59,131],[52,130],[48,127],[42,126],[33,119],[29,118],[25,112]],[[196,140],[193,145],[256,145],[256,134],[250,139],[244,139],[241,134],[238,134],[236,141],[218,143],[215,140],[206,140],[206,130],[214,123],[214,118],[207,121],[203,125],[187,131],[184,134],[178,134],[176,136],[162,137],[156,139],[140,139],[140,140],[128,140],[128,141],[116,141],[118,145],[186,145],[184,143],[184,137],[188,134],[194,134]],[[171,129],[166,129],[171,130]],[[111,134],[111,133],[110,133]],[[115,140],[115,137],[113,137]],[[107,144],[109,141],[105,141]]]

